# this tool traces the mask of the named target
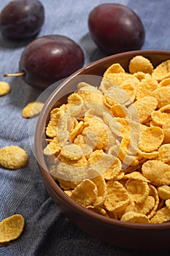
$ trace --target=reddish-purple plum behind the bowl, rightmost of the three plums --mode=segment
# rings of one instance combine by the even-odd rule
[[[122,4],[101,4],[88,16],[93,41],[104,53],[114,54],[139,50],[145,31],[139,16]]]

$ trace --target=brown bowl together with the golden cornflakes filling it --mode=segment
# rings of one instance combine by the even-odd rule
[[[99,59],[50,94],[35,132],[47,192],[75,225],[170,249],[170,51]]]

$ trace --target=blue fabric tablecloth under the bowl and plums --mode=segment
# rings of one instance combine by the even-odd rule
[[[8,2],[0,1],[0,10]],[[87,20],[90,10],[105,2],[108,1],[42,0],[45,23],[37,37],[62,34],[74,39],[85,53],[85,64],[104,57],[90,38]],[[169,0],[109,2],[127,5],[142,19],[146,33],[142,49],[170,50]],[[27,44],[27,40],[14,42],[0,35],[0,80],[11,86],[9,94],[0,97],[0,148],[16,145],[28,154],[26,167],[15,171],[0,167],[0,220],[12,214],[22,214],[26,220],[23,234],[7,246],[1,245],[0,255],[169,255],[170,252],[129,251],[93,238],[72,224],[47,194],[29,138],[29,121],[21,116],[23,107],[36,100],[41,91],[28,86],[22,78],[3,77],[5,72],[18,72],[20,54]]]

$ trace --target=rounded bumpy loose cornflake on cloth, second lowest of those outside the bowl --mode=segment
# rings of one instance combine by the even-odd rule
[[[24,167],[28,161],[28,155],[19,146],[4,146],[0,148],[0,165],[11,170]]]

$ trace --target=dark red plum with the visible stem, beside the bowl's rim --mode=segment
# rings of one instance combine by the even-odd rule
[[[34,39],[20,56],[19,70],[30,86],[45,89],[58,80],[72,75],[84,64],[80,45],[69,37],[46,35]]]

